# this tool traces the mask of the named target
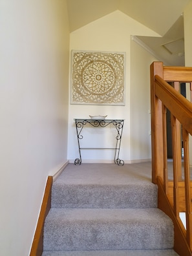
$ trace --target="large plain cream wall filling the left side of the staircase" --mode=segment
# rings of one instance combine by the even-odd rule
[[[28,255],[48,175],[67,162],[65,0],[1,0],[0,255]]]

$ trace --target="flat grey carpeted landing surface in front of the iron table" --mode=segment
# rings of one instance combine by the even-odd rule
[[[147,165],[146,165],[147,164]],[[136,184],[151,183],[151,163],[143,163],[138,171],[136,164],[69,164],[65,170],[54,181],[54,184]],[[154,184],[153,184],[154,185]]]

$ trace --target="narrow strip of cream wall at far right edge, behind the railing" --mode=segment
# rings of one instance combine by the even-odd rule
[[[192,67],[192,2],[186,6],[184,10],[184,34],[185,34],[185,65],[186,67]],[[190,93],[188,90],[188,98],[190,98]],[[189,162],[192,165],[192,138],[189,136]]]

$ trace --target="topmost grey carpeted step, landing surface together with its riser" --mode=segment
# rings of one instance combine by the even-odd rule
[[[157,186],[113,165],[69,165],[52,186],[52,208],[156,208]]]

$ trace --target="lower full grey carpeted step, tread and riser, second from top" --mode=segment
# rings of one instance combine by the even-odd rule
[[[160,209],[50,209],[44,251],[173,248],[173,223]]]

